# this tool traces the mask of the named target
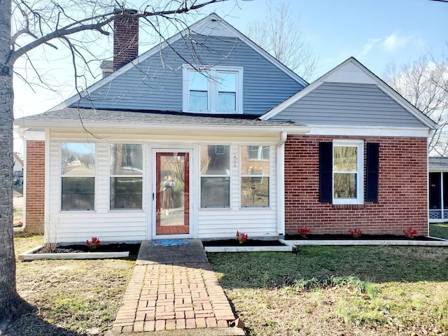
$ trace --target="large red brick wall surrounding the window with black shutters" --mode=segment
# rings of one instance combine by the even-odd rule
[[[379,202],[351,207],[319,202],[318,144],[332,139],[363,140],[364,155],[365,143],[379,143]],[[285,233],[307,227],[315,234],[346,234],[360,228],[365,234],[403,235],[402,230],[412,227],[419,235],[427,235],[426,148],[426,138],[415,137],[288,136]]]

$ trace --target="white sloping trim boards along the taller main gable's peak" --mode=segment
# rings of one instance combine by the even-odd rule
[[[216,22],[214,25],[215,29],[213,29],[213,27],[211,27],[211,25],[210,25],[211,22]],[[218,29],[218,26],[220,26],[220,25],[223,26],[223,29]],[[202,31],[201,31],[201,29],[202,29]],[[265,57],[265,59],[267,59],[269,62],[274,64],[274,66],[281,69],[281,71],[288,74],[290,77],[292,77],[298,83],[300,83],[304,86],[308,85],[307,81],[304,80],[303,78],[301,78],[300,76],[298,76],[297,73],[295,73],[294,71],[289,69],[286,65],[279,62],[275,57],[270,55],[269,52],[260,48],[260,46],[258,46],[256,43],[251,41],[248,37],[246,37],[240,31],[238,31],[237,29],[232,27],[230,24],[228,24],[228,22],[225,22],[225,20],[220,18],[218,15],[216,15],[215,13],[212,13],[212,14],[208,15],[206,18],[203,18],[202,20],[199,20],[198,22],[194,23],[190,27],[183,29],[183,31],[180,31],[179,33],[175,34],[174,36],[167,38],[162,43],[155,45],[153,48],[151,48],[150,50],[145,52],[143,55],[140,55],[137,58],[133,59],[131,62],[125,64],[120,69],[113,71],[113,73],[111,73],[109,76],[106,76],[105,78],[102,78],[101,80],[99,80],[97,83],[94,83],[92,86],[87,87],[87,89],[85,89],[85,92],[93,92],[95,90],[98,90],[100,87],[107,85],[114,78],[117,78],[121,74],[125,73],[126,71],[128,71],[130,68],[132,68],[136,64],[144,62],[149,57],[160,52],[160,50],[167,48],[169,45],[178,41],[183,36],[188,35],[190,32],[195,32],[197,34],[208,33],[209,35],[214,36],[215,34],[211,34],[211,31],[220,31],[220,32],[227,31],[227,32],[229,32],[230,34],[227,34],[225,32],[225,33],[221,33],[221,34],[216,34],[216,36],[228,36],[228,37],[235,36],[236,38],[241,39],[241,41],[243,41],[244,43],[249,45],[251,48],[253,48],[253,50],[257,51],[262,57]],[[69,99],[66,99],[61,104],[54,106],[52,109],[50,109],[48,111],[57,111],[60,109],[65,109],[66,107],[75,103],[78,99],[80,99],[79,95],[75,94],[74,96],[70,97]]]

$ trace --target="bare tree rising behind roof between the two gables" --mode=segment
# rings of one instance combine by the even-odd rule
[[[287,0],[274,8],[267,1],[265,18],[249,24],[247,36],[304,80],[314,77],[318,59],[302,37],[300,20],[290,15]]]

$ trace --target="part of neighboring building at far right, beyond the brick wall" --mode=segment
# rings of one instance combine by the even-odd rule
[[[448,221],[448,158],[429,158],[429,221]]]

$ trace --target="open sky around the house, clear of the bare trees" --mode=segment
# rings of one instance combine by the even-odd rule
[[[272,0],[272,6],[278,2]],[[288,2],[290,17],[300,22],[302,38],[318,59],[316,78],[351,56],[381,78],[388,64],[400,66],[428,52],[436,57],[448,52],[448,3],[430,0]],[[215,12],[244,34],[250,22],[265,18],[266,11],[267,0],[230,0],[202,8],[198,15],[191,15],[188,20],[193,23]],[[141,41],[141,45],[140,53],[145,51],[148,43]],[[111,38],[109,45],[104,47],[108,48],[112,48]],[[104,50],[104,55],[110,54],[111,50]],[[41,78],[50,83],[53,90],[43,87],[31,90],[16,76],[15,118],[43,113],[75,93],[73,71],[66,50],[45,48],[44,52],[39,50],[31,54],[33,56]],[[36,80],[25,59],[16,63],[15,71]],[[15,151],[22,151],[21,144],[15,146],[18,147]]]

